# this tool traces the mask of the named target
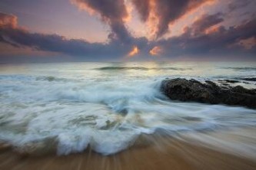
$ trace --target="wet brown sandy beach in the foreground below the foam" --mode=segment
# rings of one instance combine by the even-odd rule
[[[243,129],[251,133],[254,129]],[[226,136],[226,132],[210,132]],[[231,132],[228,132],[231,134]],[[231,154],[214,145],[202,145],[186,134],[186,140],[168,136],[145,136],[131,148],[115,155],[100,155],[90,149],[71,155],[18,155],[11,148],[0,150],[0,169],[254,169],[256,159]],[[181,136],[180,136],[181,137]],[[221,137],[221,138],[222,138]]]

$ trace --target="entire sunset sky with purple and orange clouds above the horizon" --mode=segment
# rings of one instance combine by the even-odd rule
[[[255,0],[0,0],[0,62],[256,60]]]

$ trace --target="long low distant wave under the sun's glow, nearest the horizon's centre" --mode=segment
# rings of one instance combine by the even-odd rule
[[[99,67],[96,70],[192,70],[191,68],[175,68],[175,67]]]

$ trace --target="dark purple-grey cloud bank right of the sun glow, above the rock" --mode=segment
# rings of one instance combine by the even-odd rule
[[[256,38],[256,19],[244,22],[236,27],[224,28],[218,26],[204,34],[193,34],[194,30],[204,31],[214,25],[218,25],[222,20],[220,14],[203,15],[190,28],[186,28],[184,34],[168,40],[159,41],[164,48],[165,55],[202,55],[209,54],[231,54],[235,55],[240,52],[254,55],[256,44],[250,50],[239,46],[239,42],[248,38]],[[209,19],[211,18],[211,19]],[[192,31],[191,31],[192,30]]]

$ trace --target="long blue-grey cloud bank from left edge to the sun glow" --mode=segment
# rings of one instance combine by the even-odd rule
[[[16,25],[16,17],[0,12],[0,41],[15,47],[32,47],[38,51],[53,51],[84,57],[118,57],[128,53],[128,46],[118,41],[108,44],[89,43],[78,39],[66,39],[58,34],[31,33]]]

